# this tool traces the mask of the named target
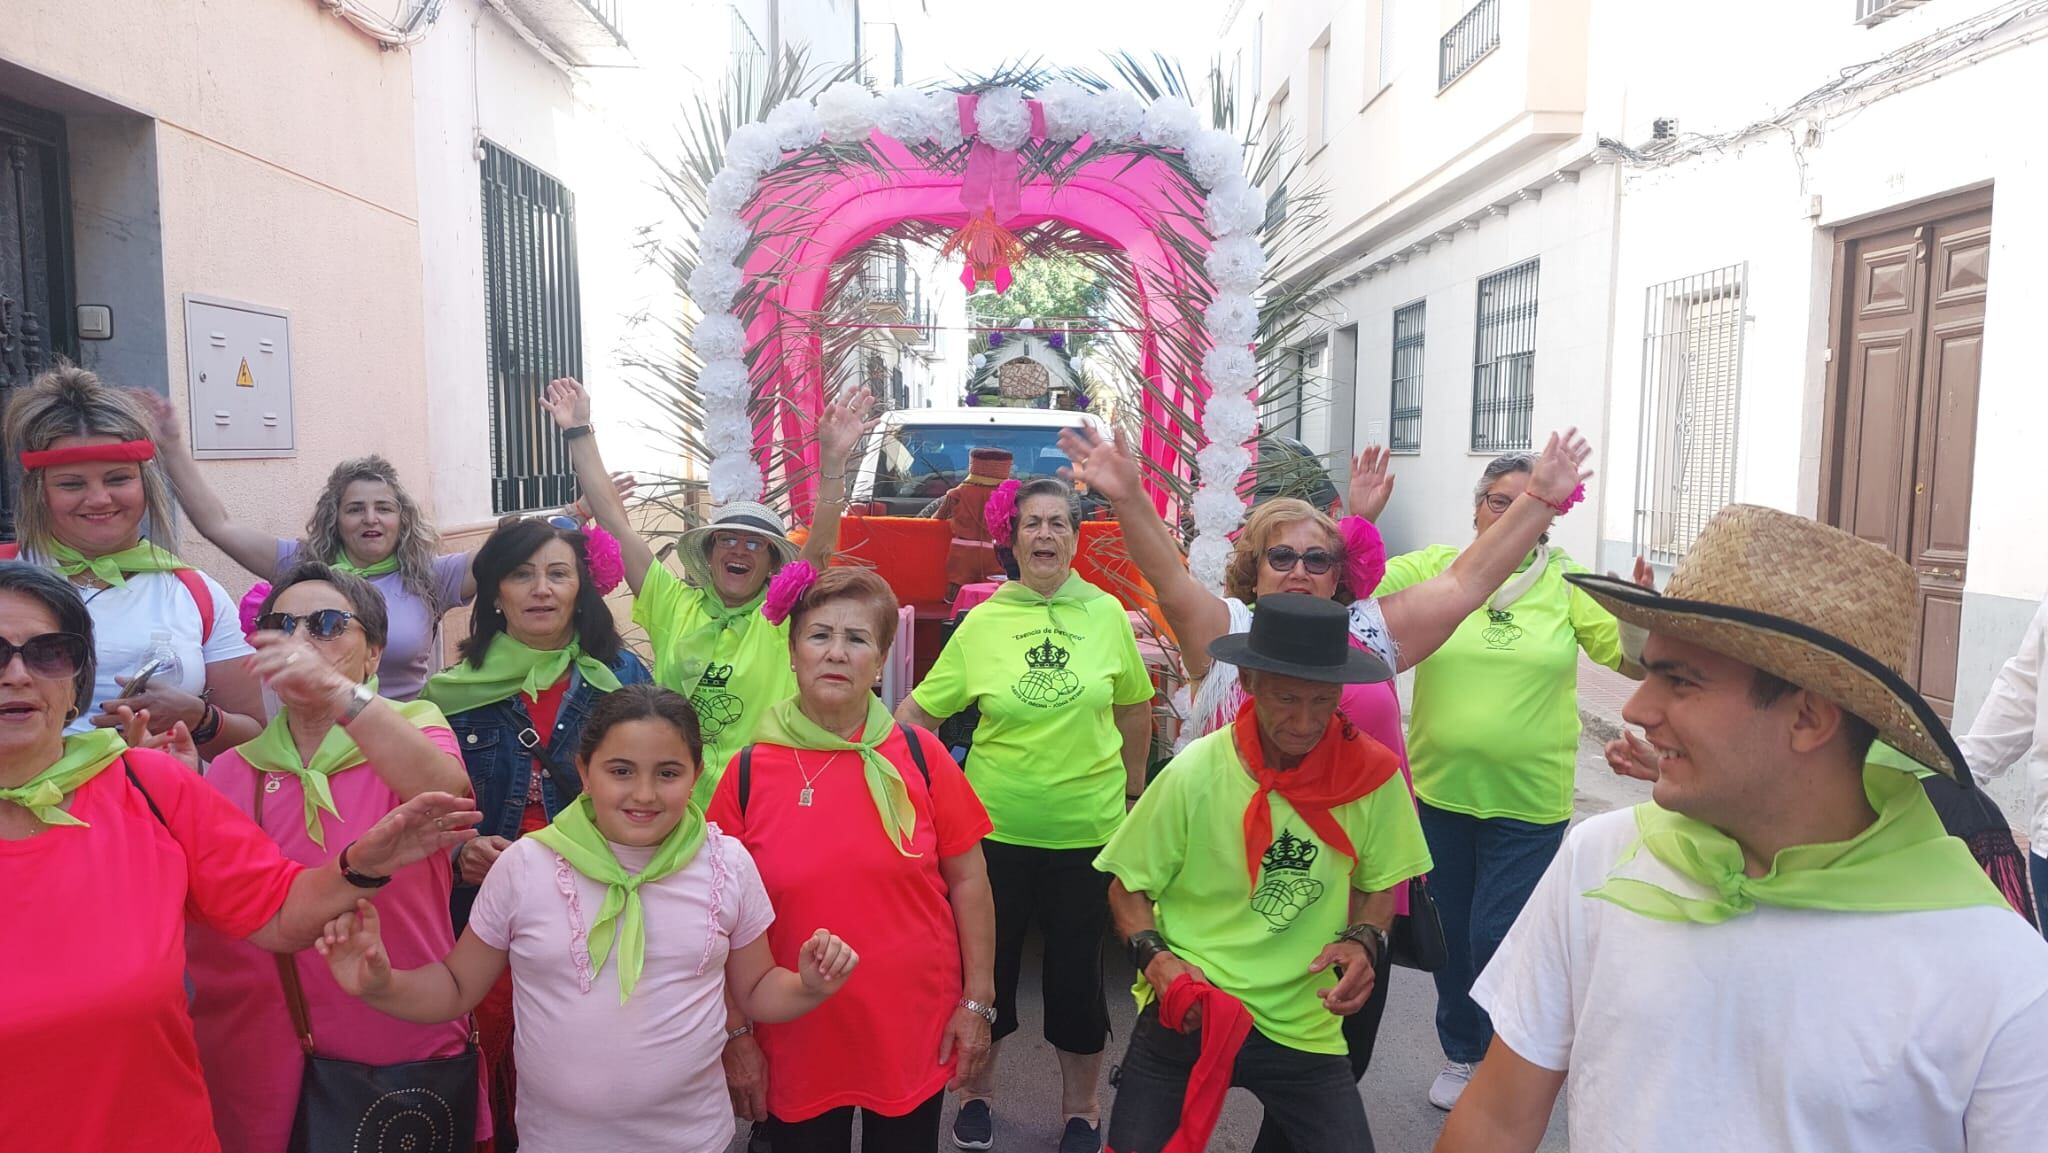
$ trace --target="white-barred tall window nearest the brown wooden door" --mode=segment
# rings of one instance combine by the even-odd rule
[[[1661,565],[1735,500],[1747,281],[1729,264],[1645,293],[1634,547]]]

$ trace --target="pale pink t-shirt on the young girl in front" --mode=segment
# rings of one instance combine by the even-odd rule
[[[651,848],[612,846],[631,872]],[[469,932],[512,963],[512,1061],[522,1153],[723,1151],[725,958],[768,932],[754,858],[713,825],[680,872],[643,885],[647,960],[618,1003],[618,956],[590,967],[604,885],[520,838],[492,864]]]

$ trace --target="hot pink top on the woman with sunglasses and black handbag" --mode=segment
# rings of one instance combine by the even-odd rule
[[[455,733],[424,729],[434,745],[459,756]],[[229,805],[256,817],[262,791],[262,829],[299,864],[326,864],[348,842],[360,838],[385,813],[399,807],[397,793],[371,764],[358,764],[328,778],[334,813],[319,813],[326,848],[305,834],[305,801],[297,776],[256,772],[240,752],[227,752],[207,766],[207,784]],[[274,791],[270,786],[274,784]],[[434,854],[401,868],[377,889],[377,915],[391,965],[414,969],[440,960],[455,948],[449,926],[449,858]],[[213,1096],[213,1126],[225,1153],[281,1153],[299,1108],[299,1079],[305,1069],[299,1036],[285,1008],[285,985],[276,960],[244,940],[207,926],[186,932],[186,975],[193,983],[193,1032]],[[469,1040],[467,1020],[412,1024],[385,1016],[334,983],[328,963],[313,950],[295,956],[299,987],[313,1026],[313,1049],[322,1057],[365,1065],[399,1065],[428,1057],[455,1057]],[[489,1137],[492,1116],[481,1090],[477,1139]]]

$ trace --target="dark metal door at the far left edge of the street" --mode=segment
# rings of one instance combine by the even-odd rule
[[[72,334],[72,227],[63,121],[0,100],[0,403],[57,356]],[[14,537],[16,465],[0,485],[0,537]]]

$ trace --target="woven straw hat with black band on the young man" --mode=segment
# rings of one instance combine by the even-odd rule
[[[1591,573],[1565,580],[1630,625],[1819,692],[1870,721],[1884,743],[1970,780],[1948,725],[1903,676],[1919,580],[1880,545],[1731,504],[1700,530],[1663,594]]]

